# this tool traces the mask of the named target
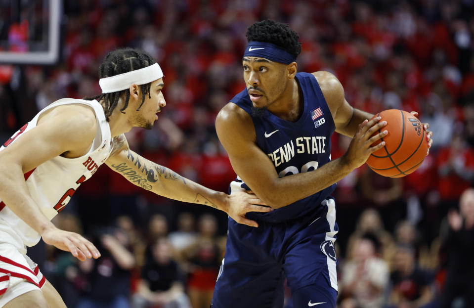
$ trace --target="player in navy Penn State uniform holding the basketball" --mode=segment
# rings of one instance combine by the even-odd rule
[[[286,278],[295,308],[334,308],[338,225],[330,194],[385,145],[371,146],[387,123],[352,108],[333,74],[298,73],[301,43],[288,25],[256,22],[247,39],[246,89],[222,108],[215,127],[237,174],[230,190],[250,188],[275,210],[247,214],[258,228],[229,218],[212,307],[282,307]],[[335,131],[353,139],[331,161]]]

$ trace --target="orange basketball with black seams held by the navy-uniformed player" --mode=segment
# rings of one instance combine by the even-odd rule
[[[374,117],[377,116],[382,117],[380,121],[387,121],[387,126],[381,131],[387,130],[388,134],[382,138],[385,146],[370,155],[367,165],[382,176],[411,174],[423,163],[428,151],[428,139],[420,120],[398,109],[384,110]]]

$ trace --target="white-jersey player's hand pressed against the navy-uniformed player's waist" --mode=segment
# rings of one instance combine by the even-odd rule
[[[229,195],[229,207],[226,213],[238,223],[246,224],[251,227],[258,227],[257,221],[247,219],[245,214],[249,212],[268,213],[272,208],[261,201],[252,191],[237,191]]]

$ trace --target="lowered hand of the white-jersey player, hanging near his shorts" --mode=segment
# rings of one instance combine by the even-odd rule
[[[81,261],[85,261],[88,258],[97,259],[100,257],[100,253],[94,244],[78,233],[64,231],[58,228],[49,228],[43,231],[41,237],[44,243],[53,245],[64,251],[69,251],[74,257]]]

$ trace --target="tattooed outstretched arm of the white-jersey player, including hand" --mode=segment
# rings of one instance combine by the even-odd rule
[[[240,192],[227,195],[204,187],[174,171],[155,164],[130,150],[125,135],[114,138],[114,150],[106,164],[120,173],[131,183],[154,193],[184,202],[211,206],[224,211],[232,219],[250,226],[257,222],[245,218],[248,212],[270,212],[271,208],[259,206],[264,204],[254,194]]]

